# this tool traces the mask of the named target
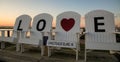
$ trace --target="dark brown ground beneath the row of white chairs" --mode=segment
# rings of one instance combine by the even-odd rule
[[[0,62],[84,62],[84,48],[79,52],[79,60],[75,60],[75,52],[71,49],[54,50],[52,56],[47,52],[40,55],[40,48],[25,46],[25,52],[15,51],[15,46],[0,50]],[[87,53],[87,62],[119,62],[119,56],[109,54],[109,51],[91,51]]]

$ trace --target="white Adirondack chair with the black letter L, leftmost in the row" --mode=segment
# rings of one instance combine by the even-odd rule
[[[12,29],[0,30],[1,34],[2,34],[2,36],[0,37],[0,41],[2,42],[1,48],[2,49],[5,48],[4,42],[11,42],[13,44],[17,44],[17,41],[19,39],[19,32],[20,31],[28,31],[30,22],[31,22],[30,16],[21,15],[21,16],[17,17],[13,30]],[[8,34],[8,36],[6,36],[7,34]],[[19,49],[17,47],[17,51],[18,50]]]

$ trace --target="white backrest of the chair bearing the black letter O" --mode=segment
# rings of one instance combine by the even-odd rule
[[[31,38],[42,39],[42,32],[50,32],[52,28],[53,17],[50,14],[43,13],[34,17],[31,29]]]

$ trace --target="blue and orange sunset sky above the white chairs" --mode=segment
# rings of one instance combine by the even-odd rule
[[[82,16],[83,27],[85,14],[98,9],[114,13],[115,24],[120,26],[120,0],[0,0],[0,26],[13,26],[23,14],[34,18],[40,13],[49,13],[55,21],[60,13],[74,11]]]

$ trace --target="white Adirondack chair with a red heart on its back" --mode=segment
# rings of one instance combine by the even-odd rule
[[[47,41],[48,56],[51,55],[51,47],[64,47],[74,49],[76,51],[76,60],[78,60],[80,17],[78,13],[72,11],[64,12],[57,16],[55,40],[49,37]]]

